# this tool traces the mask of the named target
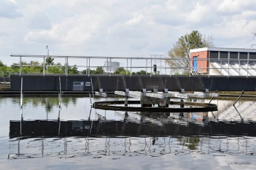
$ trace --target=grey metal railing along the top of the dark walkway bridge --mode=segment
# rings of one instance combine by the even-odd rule
[[[117,69],[119,65],[111,65],[111,62],[119,62],[123,63],[123,68],[126,71],[126,75],[130,76],[133,72],[145,71],[146,74],[161,74],[161,75],[175,75],[175,74],[183,74],[183,75],[192,75],[193,71],[193,62],[197,60],[200,64],[198,65],[198,69],[200,69],[201,74],[205,75],[217,75],[214,72],[218,72],[221,75],[225,76],[233,76],[235,72],[238,76],[256,76],[252,75],[256,72],[256,66],[250,67],[249,62],[255,62],[256,59],[171,59],[169,57],[80,57],[80,56],[50,56],[52,58],[64,59],[64,65],[24,65],[22,64],[22,59],[25,57],[37,57],[44,58],[45,55],[11,55],[11,57],[20,57],[20,64],[12,65],[16,67],[20,67],[20,75],[24,74],[22,72],[22,67],[65,67],[64,74],[68,75],[68,67],[76,66],[78,68],[85,68],[86,74],[90,76],[90,70],[97,69],[97,67],[102,67],[105,73],[111,76],[114,73],[114,69]],[[69,65],[68,61],[71,59],[85,59],[85,64],[83,65]],[[107,65],[103,65],[102,59],[104,61],[108,61]],[[101,60],[102,65],[95,65],[95,61]],[[122,62],[124,61],[124,62]],[[142,62],[142,64],[140,64]],[[238,62],[235,65],[230,64],[231,62]],[[80,62],[81,63],[81,62]],[[207,64],[206,64],[207,63]],[[214,67],[212,64],[216,63]],[[99,62],[97,62],[99,64]],[[154,67],[156,65],[156,67]],[[234,72],[235,70],[235,72]],[[42,74],[42,73],[41,73]],[[43,73],[45,75],[45,72]],[[49,73],[47,73],[49,74]]]

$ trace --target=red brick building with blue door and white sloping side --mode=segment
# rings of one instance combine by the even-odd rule
[[[197,48],[190,50],[192,74],[256,76],[256,50]]]

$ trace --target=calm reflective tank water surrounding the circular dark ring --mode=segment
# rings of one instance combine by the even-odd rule
[[[219,111],[183,117],[58,102],[25,96],[20,110],[20,98],[0,98],[0,169],[255,169],[253,100],[213,101]]]

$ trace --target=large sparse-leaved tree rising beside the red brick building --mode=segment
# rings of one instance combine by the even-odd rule
[[[168,56],[171,60],[166,62],[176,68],[176,72],[186,74],[190,71],[190,50],[194,48],[214,47],[213,38],[205,37],[199,31],[186,33],[178,38],[174,43],[173,48],[169,50]]]

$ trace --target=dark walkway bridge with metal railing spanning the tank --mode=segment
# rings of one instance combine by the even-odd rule
[[[159,91],[256,91],[256,60],[222,60],[222,59],[197,59],[210,64],[202,65],[204,75],[192,75],[194,59],[170,59],[152,55],[151,57],[82,57],[82,56],[54,56],[54,55],[11,55],[19,57],[19,74],[11,75],[11,91],[21,91],[21,79],[23,79],[23,91],[153,91],[156,87]],[[22,60],[27,58],[42,60],[42,65],[22,65]],[[64,60],[64,66],[47,65],[47,57],[56,60]],[[68,67],[72,66],[68,61],[81,65],[75,65],[78,69],[86,69],[86,74],[71,75]],[[83,62],[81,62],[81,60]],[[104,61],[105,64],[104,65]],[[179,61],[180,65],[177,65]],[[112,62],[121,64],[116,66]],[[228,62],[228,63],[227,63]],[[175,64],[176,63],[176,64]],[[23,67],[43,67],[42,74],[24,74]],[[47,74],[49,67],[65,67],[64,74]],[[102,67],[104,74],[91,74],[90,70]],[[113,74],[113,68],[123,67],[126,75]],[[143,70],[145,75],[133,74]],[[220,71],[224,75],[212,75],[214,71]],[[177,75],[178,74],[178,75]]]

